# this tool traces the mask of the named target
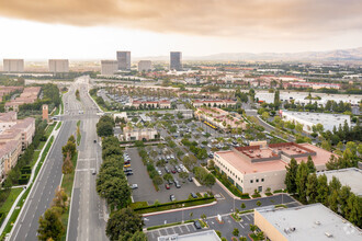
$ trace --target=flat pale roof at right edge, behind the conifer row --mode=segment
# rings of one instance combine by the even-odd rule
[[[362,170],[357,168],[330,170],[325,172],[318,172],[318,175],[326,174],[328,182],[336,176],[342,185],[350,186],[351,191],[362,196]]]

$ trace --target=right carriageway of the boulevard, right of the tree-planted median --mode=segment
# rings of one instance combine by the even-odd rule
[[[105,237],[106,208],[104,200],[95,192],[95,175],[92,174],[92,170],[99,171],[102,162],[101,147],[95,130],[99,119],[98,108],[88,95],[89,78],[77,79],[76,85],[80,91],[84,112],[80,114],[83,116],[80,118],[81,144],[78,148],[67,240],[108,240]]]

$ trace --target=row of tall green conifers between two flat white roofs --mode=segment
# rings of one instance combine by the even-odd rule
[[[301,164],[292,158],[285,168],[289,193],[296,194],[303,204],[321,203],[361,228],[362,198],[353,194],[351,187],[342,186],[336,177],[328,183],[325,174],[317,175],[310,156]]]

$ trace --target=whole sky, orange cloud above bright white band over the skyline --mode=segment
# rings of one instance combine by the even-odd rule
[[[0,58],[361,47],[361,0],[0,0]]]

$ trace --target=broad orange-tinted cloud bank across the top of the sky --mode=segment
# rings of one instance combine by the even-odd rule
[[[246,38],[362,30],[360,0],[0,0],[0,15],[70,25]]]

